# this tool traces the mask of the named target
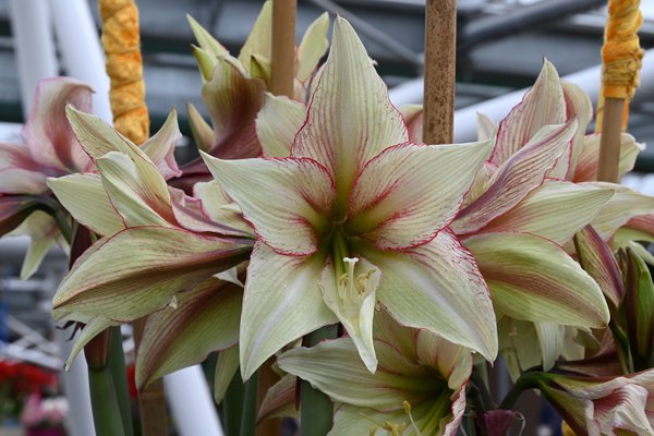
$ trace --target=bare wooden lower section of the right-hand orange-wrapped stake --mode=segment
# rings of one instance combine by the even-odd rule
[[[620,135],[622,133],[622,113],[625,100],[606,98],[602,118],[602,137],[600,140],[600,160],[597,180],[619,183]]]

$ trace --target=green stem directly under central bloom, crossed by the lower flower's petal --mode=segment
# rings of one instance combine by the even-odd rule
[[[306,346],[314,347],[325,339],[334,339],[338,326],[323,327],[307,337]],[[329,397],[302,380],[300,387],[300,434],[302,436],[325,436],[332,426],[334,404]]]

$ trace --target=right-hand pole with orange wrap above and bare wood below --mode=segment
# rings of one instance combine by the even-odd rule
[[[643,49],[638,29],[643,22],[640,0],[609,0],[602,47],[602,95],[597,125],[602,132],[597,180],[619,182],[620,135],[627,125],[627,105],[640,83]]]

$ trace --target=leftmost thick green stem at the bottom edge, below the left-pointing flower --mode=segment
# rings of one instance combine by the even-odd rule
[[[88,387],[97,436],[125,436],[109,366],[88,368]]]

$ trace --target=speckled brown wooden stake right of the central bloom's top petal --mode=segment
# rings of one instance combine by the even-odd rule
[[[423,141],[451,144],[455,126],[457,0],[427,0]]]

